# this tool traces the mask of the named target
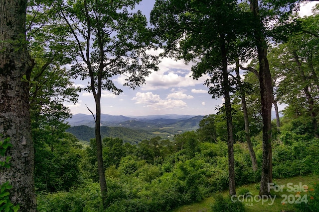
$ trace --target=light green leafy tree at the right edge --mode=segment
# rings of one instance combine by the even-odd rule
[[[271,68],[281,79],[277,86],[280,102],[288,104],[289,118],[309,117],[312,134],[318,138],[318,14],[298,18],[300,28],[286,36],[286,42],[275,46],[270,57]],[[312,26],[312,27],[310,27]]]

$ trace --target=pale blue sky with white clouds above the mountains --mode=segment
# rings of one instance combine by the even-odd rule
[[[155,0],[142,0],[139,9],[149,18]],[[300,15],[311,14],[311,8],[319,1],[309,2],[301,7]],[[154,52],[155,54],[157,52]],[[146,77],[146,84],[133,90],[123,87],[123,77],[114,79],[116,85],[123,90],[120,95],[103,91],[101,98],[101,113],[124,116],[146,115],[209,115],[215,114],[216,107],[223,99],[212,99],[208,88],[203,85],[207,76],[194,80],[191,76],[191,66],[181,60],[164,58],[159,64],[159,71],[153,71]],[[88,80],[75,80],[76,86],[84,87]],[[90,114],[88,108],[95,113],[95,103],[92,93],[82,91],[76,104],[66,103],[72,114]],[[280,110],[284,106],[280,107]]]

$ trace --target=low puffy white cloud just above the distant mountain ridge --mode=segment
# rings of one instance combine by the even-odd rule
[[[183,108],[187,106],[182,100],[161,99],[160,95],[153,94],[152,92],[138,92],[132,100],[135,100],[136,104],[144,104],[144,107],[151,107],[154,110]]]

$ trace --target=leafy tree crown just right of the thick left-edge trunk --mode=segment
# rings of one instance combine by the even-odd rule
[[[68,26],[44,4],[29,1],[26,25],[28,50],[34,59],[29,94],[32,129],[46,125],[48,119],[63,123],[71,116],[63,103],[76,103],[80,90],[64,67],[75,60],[75,43]]]

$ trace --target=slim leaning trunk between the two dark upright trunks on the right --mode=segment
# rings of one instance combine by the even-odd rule
[[[246,99],[245,99],[245,91],[242,88],[242,83],[241,83],[241,79],[240,79],[240,75],[239,75],[238,61],[236,61],[235,72],[237,75],[237,84],[238,84],[239,89],[240,89],[241,102],[242,102],[243,112],[244,112],[244,123],[245,123],[245,134],[246,134],[247,146],[248,146],[248,150],[249,150],[249,154],[250,154],[250,158],[251,158],[253,171],[257,171],[258,163],[257,163],[257,159],[256,159],[256,154],[255,154],[255,151],[254,151],[253,145],[251,143],[251,139],[250,139],[250,127],[249,127],[249,120],[248,120],[247,104],[246,104]]]

